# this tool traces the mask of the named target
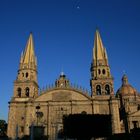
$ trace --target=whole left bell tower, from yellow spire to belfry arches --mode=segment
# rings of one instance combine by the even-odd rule
[[[14,82],[14,97],[34,98],[38,96],[37,59],[33,36],[30,33],[26,48],[21,54],[17,79]]]

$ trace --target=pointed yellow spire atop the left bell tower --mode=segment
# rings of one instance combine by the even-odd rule
[[[21,63],[23,64],[35,63],[36,65],[36,57],[34,53],[34,43],[32,33],[30,33],[25,51],[21,57]]]

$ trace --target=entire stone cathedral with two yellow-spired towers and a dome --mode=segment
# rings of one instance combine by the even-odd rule
[[[110,115],[112,134],[130,133],[133,128],[140,127],[140,95],[129,84],[126,74],[122,76],[122,85],[114,92],[107,51],[98,30],[91,60],[90,95],[83,88],[71,85],[63,72],[54,81],[54,86],[39,91],[31,33],[20,58],[9,102],[8,137],[15,139],[17,135],[20,138],[30,135],[34,125],[42,126],[44,135],[55,140],[63,130],[63,116],[82,113]]]

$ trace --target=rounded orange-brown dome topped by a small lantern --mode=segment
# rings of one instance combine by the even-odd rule
[[[118,89],[116,95],[136,95],[137,91],[135,88],[133,88],[129,83],[128,83],[128,78],[126,75],[122,77],[122,86]]]

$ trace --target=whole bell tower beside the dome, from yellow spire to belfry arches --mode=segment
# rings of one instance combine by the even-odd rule
[[[113,94],[113,77],[110,73],[106,49],[98,30],[95,32],[91,63],[91,96]]]

